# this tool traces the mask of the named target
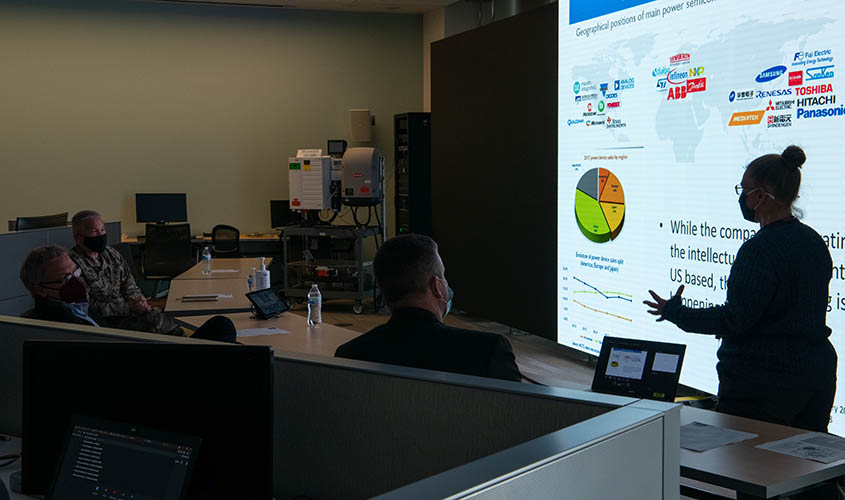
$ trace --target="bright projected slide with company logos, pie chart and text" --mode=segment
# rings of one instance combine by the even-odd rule
[[[759,229],[734,186],[750,160],[797,144],[808,158],[797,206],[833,257],[827,323],[845,354],[841,4],[559,8],[558,342],[596,355],[605,335],[682,342],[681,383],[715,393],[719,341],[656,323],[642,301],[683,284],[688,306],[724,302],[737,250]],[[845,391],[830,429],[845,435]]]

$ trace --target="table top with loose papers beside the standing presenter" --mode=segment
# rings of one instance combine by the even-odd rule
[[[770,498],[845,474],[845,460],[823,464],[757,445],[809,431],[684,406],[681,425],[692,422],[757,434],[754,439],[696,452],[681,448],[681,475],[762,498]]]

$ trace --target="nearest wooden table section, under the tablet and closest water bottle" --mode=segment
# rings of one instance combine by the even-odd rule
[[[180,321],[194,327],[199,327],[213,315],[188,316],[179,318]],[[293,313],[284,313],[278,318],[261,320],[252,317],[252,313],[224,314],[231,319],[238,330],[252,328],[280,328],[289,333],[274,335],[256,335],[238,337],[238,342],[249,345],[268,345],[276,353],[290,351],[319,356],[334,356],[335,350],[341,345],[361,335],[339,326],[323,323],[319,327],[309,327],[306,319]]]

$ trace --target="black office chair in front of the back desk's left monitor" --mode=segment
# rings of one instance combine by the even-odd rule
[[[190,224],[147,224],[144,256],[141,259],[144,278],[158,283],[174,278],[194,265]]]

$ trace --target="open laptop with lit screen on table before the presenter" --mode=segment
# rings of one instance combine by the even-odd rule
[[[592,391],[674,401],[686,348],[684,344],[605,337]]]

